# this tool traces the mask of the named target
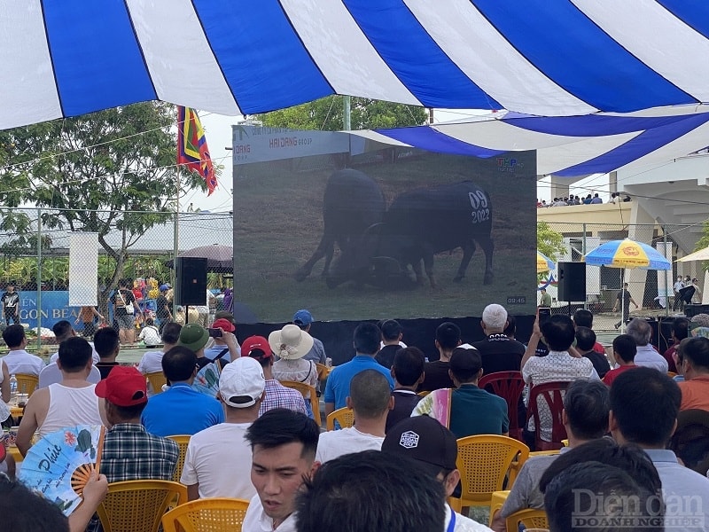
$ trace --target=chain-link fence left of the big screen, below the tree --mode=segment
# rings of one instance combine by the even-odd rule
[[[72,244],[77,235],[87,238],[87,233],[95,235],[88,237],[90,244]],[[86,336],[99,326],[118,328],[112,296],[123,279],[136,300],[133,320],[137,337],[147,318],[159,324],[165,316],[158,309],[159,298],[162,294],[169,300],[173,291],[161,292],[160,287],[175,286],[175,253],[207,259],[206,286],[214,298],[207,301],[205,293],[205,306],[214,316],[216,310],[230,305],[232,245],[231,213],[183,212],[175,221],[175,213],[2,209],[0,293],[4,295],[0,296],[0,326],[24,325],[28,337],[37,336],[38,347],[52,343],[51,328],[60,320],[69,321]],[[82,262],[82,253],[89,251],[90,256],[86,248],[91,247],[98,250],[97,261]],[[77,301],[70,293],[75,294],[79,287],[82,293],[95,293],[95,301],[91,301],[95,305],[70,304]],[[122,306],[120,297],[117,305]],[[181,318],[179,309],[168,308],[173,318]],[[196,310],[190,309],[190,315],[192,312]]]

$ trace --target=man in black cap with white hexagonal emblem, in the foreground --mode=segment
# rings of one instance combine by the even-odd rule
[[[393,426],[392,430],[386,433],[382,452],[416,460],[428,473],[429,480],[440,482],[443,486],[444,502],[446,498],[453,495],[460,482],[460,471],[456,465],[458,458],[456,434],[428,416],[403,419]],[[448,504],[446,504],[445,519],[443,530],[489,531],[485,525],[454,512]]]

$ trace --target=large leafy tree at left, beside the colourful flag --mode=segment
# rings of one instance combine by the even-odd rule
[[[37,221],[33,211],[17,208],[29,204],[42,209],[44,229],[97,232],[113,263],[105,296],[121,277],[130,247],[174,215],[174,127],[175,107],[150,102],[2,132],[7,166],[0,168],[0,229],[29,246]],[[196,174],[183,171],[179,178],[182,191],[206,190]],[[105,240],[111,231],[121,231],[118,248]]]

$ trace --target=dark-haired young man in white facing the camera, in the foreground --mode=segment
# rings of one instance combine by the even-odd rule
[[[267,411],[246,430],[256,495],[244,516],[244,532],[295,531],[295,499],[303,480],[311,478],[319,465],[318,434],[315,421],[284,408]]]

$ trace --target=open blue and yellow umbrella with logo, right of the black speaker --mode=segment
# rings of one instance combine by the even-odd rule
[[[672,262],[659,253],[657,249],[631,239],[611,240],[601,244],[596,249],[589,251],[583,257],[583,260],[591,266],[606,266],[624,270],[635,268],[641,270],[672,270]],[[624,290],[622,285],[620,290]],[[620,297],[621,317],[624,316],[625,299],[625,297]],[[621,327],[624,325],[621,324]]]

